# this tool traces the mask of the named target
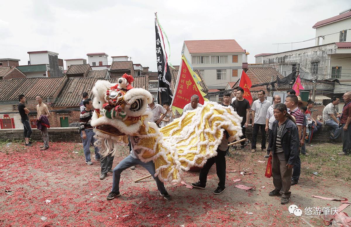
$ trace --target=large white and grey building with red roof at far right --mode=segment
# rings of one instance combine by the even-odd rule
[[[283,76],[296,71],[300,66],[299,73],[303,79],[338,79],[341,85],[318,84],[317,90],[322,90],[325,94],[350,91],[351,11],[318,21],[313,28],[316,29],[316,46],[276,54],[258,54],[255,55],[256,63],[262,62],[264,67],[274,67]],[[350,34],[347,35],[347,32]],[[312,89],[311,83],[305,89]]]

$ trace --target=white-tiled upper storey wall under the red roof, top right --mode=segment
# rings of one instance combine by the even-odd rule
[[[324,39],[319,38],[319,45],[339,42],[340,31],[351,28],[351,18],[347,18],[341,21],[333,22],[329,25],[324,25],[322,27],[316,28],[316,37],[324,36]],[[336,33],[336,34],[333,34]],[[332,35],[328,35],[332,34]],[[351,42],[351,30],[346,33],[346,42]],[[316,39],[316,46],[318,45],[318,38]]]

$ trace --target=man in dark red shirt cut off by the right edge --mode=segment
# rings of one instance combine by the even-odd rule
[[[340,118],[343,137],[343,152],[338,154],[347,155],[351,153],[351,92],[346,92],[343,95],[345,105]]]

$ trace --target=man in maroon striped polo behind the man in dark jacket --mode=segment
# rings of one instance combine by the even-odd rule
[[[295,118],[296,121],[296,126],[298,129],[298,135],[300,139],[300,145],[301,143],[304,143],[304,139],[302,139],[302,127],[304,124],[305,116],[298,107],[298,101],[299,99],[297,98],[296,95],[288,95],[286,96],[285,99],[285,105],[287,108],[290,109],[289,114]],[[292,179],[291,179],[291,185],[296,185],[298,183],[299,177],[300,177],[300,172],[301,172],[301,160],[300,160],[300,149],[299,153],[297,155],[296,163],[293,167],[293,172],[292,172]]]

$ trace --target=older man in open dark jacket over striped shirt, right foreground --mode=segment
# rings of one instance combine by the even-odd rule
[[[269,156],[272,157],[274,190],[270,196],[281,195],[281,204],[289,203],[291,173],[299,151],[299,135],[294,118],[287,113],[286,105],[278,103],[273,107],[276,121],[269,135]]]

